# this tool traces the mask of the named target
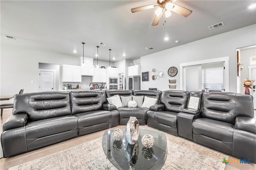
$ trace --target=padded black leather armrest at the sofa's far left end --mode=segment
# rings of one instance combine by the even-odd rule
[[[10,116],[3,125],[3,131],[8,129],[14,129],[17,127],[23,127],[28,123],[28,115],[27,114],[16,114]]]

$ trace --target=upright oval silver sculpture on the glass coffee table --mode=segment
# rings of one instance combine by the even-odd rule
[[[139,137],[139,121],[136,117],[130,117],[126,126],[126,139],[128,143],[134,145]]]

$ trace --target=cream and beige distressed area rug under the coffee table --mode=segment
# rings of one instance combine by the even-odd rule
[[[142,129],[152,129],[141,126]],[[227,155],[166,134],[168,155],[162,170],[224,170]],[[9,170],[116,170],[102,150],[102,137],[65,149]]]

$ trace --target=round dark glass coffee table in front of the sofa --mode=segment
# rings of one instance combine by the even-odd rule
[[[130,145],[126,140],[126,129],[122,129],[124,136],[120,141],[113,138],[114,130],[106,131],[102,138],[102,148],[107,158],[119,170],[148,170],[161,169],[167,156],[167,142],[164,133],[140,129],[138,142]],[[150,134],[154,137],[154,146],[146,148],[141,139]]]

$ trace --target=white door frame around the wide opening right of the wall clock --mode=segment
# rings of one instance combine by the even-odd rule
[[[199,65],[199,64],[209,64],[209,63],[220,63],[223,62],[223,65],[225,67],[224,69],[224,88],[225,92],[229,92],[229,56],[227,57],[219,57],[215,59],[208,59],[208,60],[200,60],[200,61],[193,61],[188,63],[181,63],[180,64],[180,90],[184,90],[184,72],[183,69],[186,66],[193,66],[193,65]]]

